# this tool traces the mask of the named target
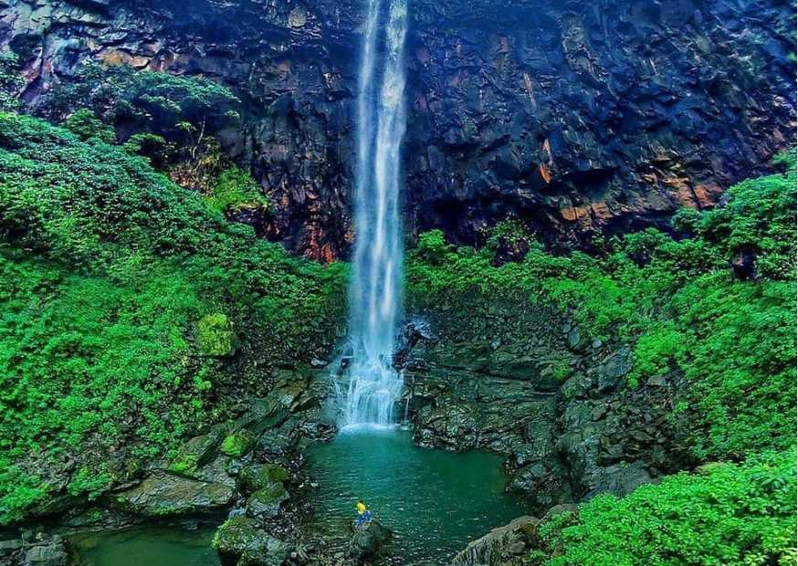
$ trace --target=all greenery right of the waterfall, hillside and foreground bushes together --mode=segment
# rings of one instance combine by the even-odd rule
[[[584,333],[633,344],[628,387],[683,375],[674,416],[689,447],[730,462],[555,516],[531,563],[796,563],[794,152],[777,162],[783,173],[731,187],[728,204],[678,214],[688,237],[649,229],[600,243],[599,257],[553,257],[528,238],[522,262],[493,267],[507,225],[480,250],[419,237],[406,266],[414,309],[519,295],[569,309]],[[735,273],[745,257],[753,272]]]

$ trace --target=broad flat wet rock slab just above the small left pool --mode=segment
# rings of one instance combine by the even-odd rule
[[[157,471],[136,487],[110,494],[110,504],[144,517],[211,513],[226,508],[235,490],[224,484],[197,481]]]

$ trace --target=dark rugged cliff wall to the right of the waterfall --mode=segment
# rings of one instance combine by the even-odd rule
[[[550,243],[663,224],[794,140],[787,2],[424,3],[411,44],[415,226],[520,215]]]

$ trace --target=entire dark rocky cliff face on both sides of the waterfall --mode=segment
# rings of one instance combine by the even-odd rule
[[[518,215],[554,246],[716,203],[793,144],[794,5],[419,0],[408,38],[406,222],[460,242]],[[200,74],[244,101],[224,147],[308,257],[352,241],[355,0],[0,0],[35,106],[79,62]]]

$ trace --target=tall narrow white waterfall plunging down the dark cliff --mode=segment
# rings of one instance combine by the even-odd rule
[[[343,425],[389,425],[402,392],[402,378],[392,362],[402,305],[399,175],[407,0],[368,0],[364,31],[349,297],[352,357],[341,404]]]

